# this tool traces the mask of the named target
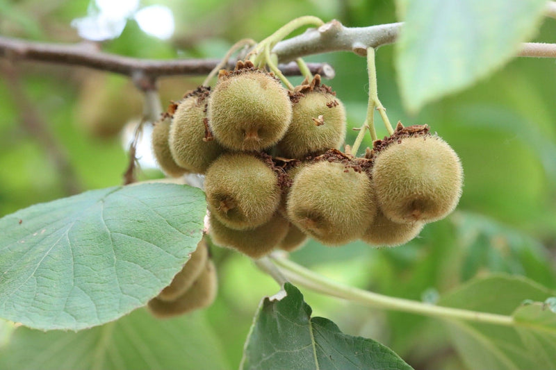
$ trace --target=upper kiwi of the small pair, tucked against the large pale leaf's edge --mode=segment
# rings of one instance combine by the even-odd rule
[[[162,292],[156,298],[161,301],[174,301],[178,296],[181,296],[199,277],[199,274],[201,274],[206,265],[207,259],[208,246],[203,238],[197,244],[197,249],[191,253],[189,260],[183,265],[181,271],[174,276],[172,283],[162,289]]]

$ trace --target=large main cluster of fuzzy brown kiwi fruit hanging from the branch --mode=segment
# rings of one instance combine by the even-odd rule
[[[292,251],[307,237],[395,246],[455,208],[461,163],[428,126],[398,124],[357,158],[338,150],[345,116],[320,76],[287,90],[238,62],[213,90],[172,103],[152,144],[166,174],[205,175],[213,243],[252,258]]]

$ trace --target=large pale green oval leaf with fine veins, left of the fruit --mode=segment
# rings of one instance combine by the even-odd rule
[[[145,305],[202,237],[204,194],[142,184],[85,192],[0,219],[0,317],[80,330]]]

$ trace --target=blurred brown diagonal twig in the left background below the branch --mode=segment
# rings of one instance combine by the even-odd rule
[[[1,63],[0,72],[10,88],[13,103],[17,106],[17,111],[20,112],[22,126],[47,152],[49,159],[53,162],[54,167],[56,167],[56,171],[60,174],[60,181],[65,194],[74,195],[80,193],[82,189],[74,168],[67,158],[63,147],[60,146],[54,135],[49,131],[47,122],[42,119],[42,115],[37,112],[35,104],[24,92],[17,67],[8,63]]]

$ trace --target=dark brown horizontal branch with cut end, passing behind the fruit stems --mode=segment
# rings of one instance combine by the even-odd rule
[[[129,58],[101,52],[91,44],[53,44],[1,36],[0,57],[88,67],[123,74],[134,80],[144,78],[147,81],[145,87],[152,85],[149,81],[161,76],[208,74],[220,62],[218,59],[149,60]],[[229,67],[234,67],[234,65],[235,62],[231,60]],[[326,63],[309,63],[309,68],[313,74],[318,73],[325,78],[334,77],[334,69]],[[295,62],[281,65],[280,69],[289,76],[300,74],[300,69]]]

